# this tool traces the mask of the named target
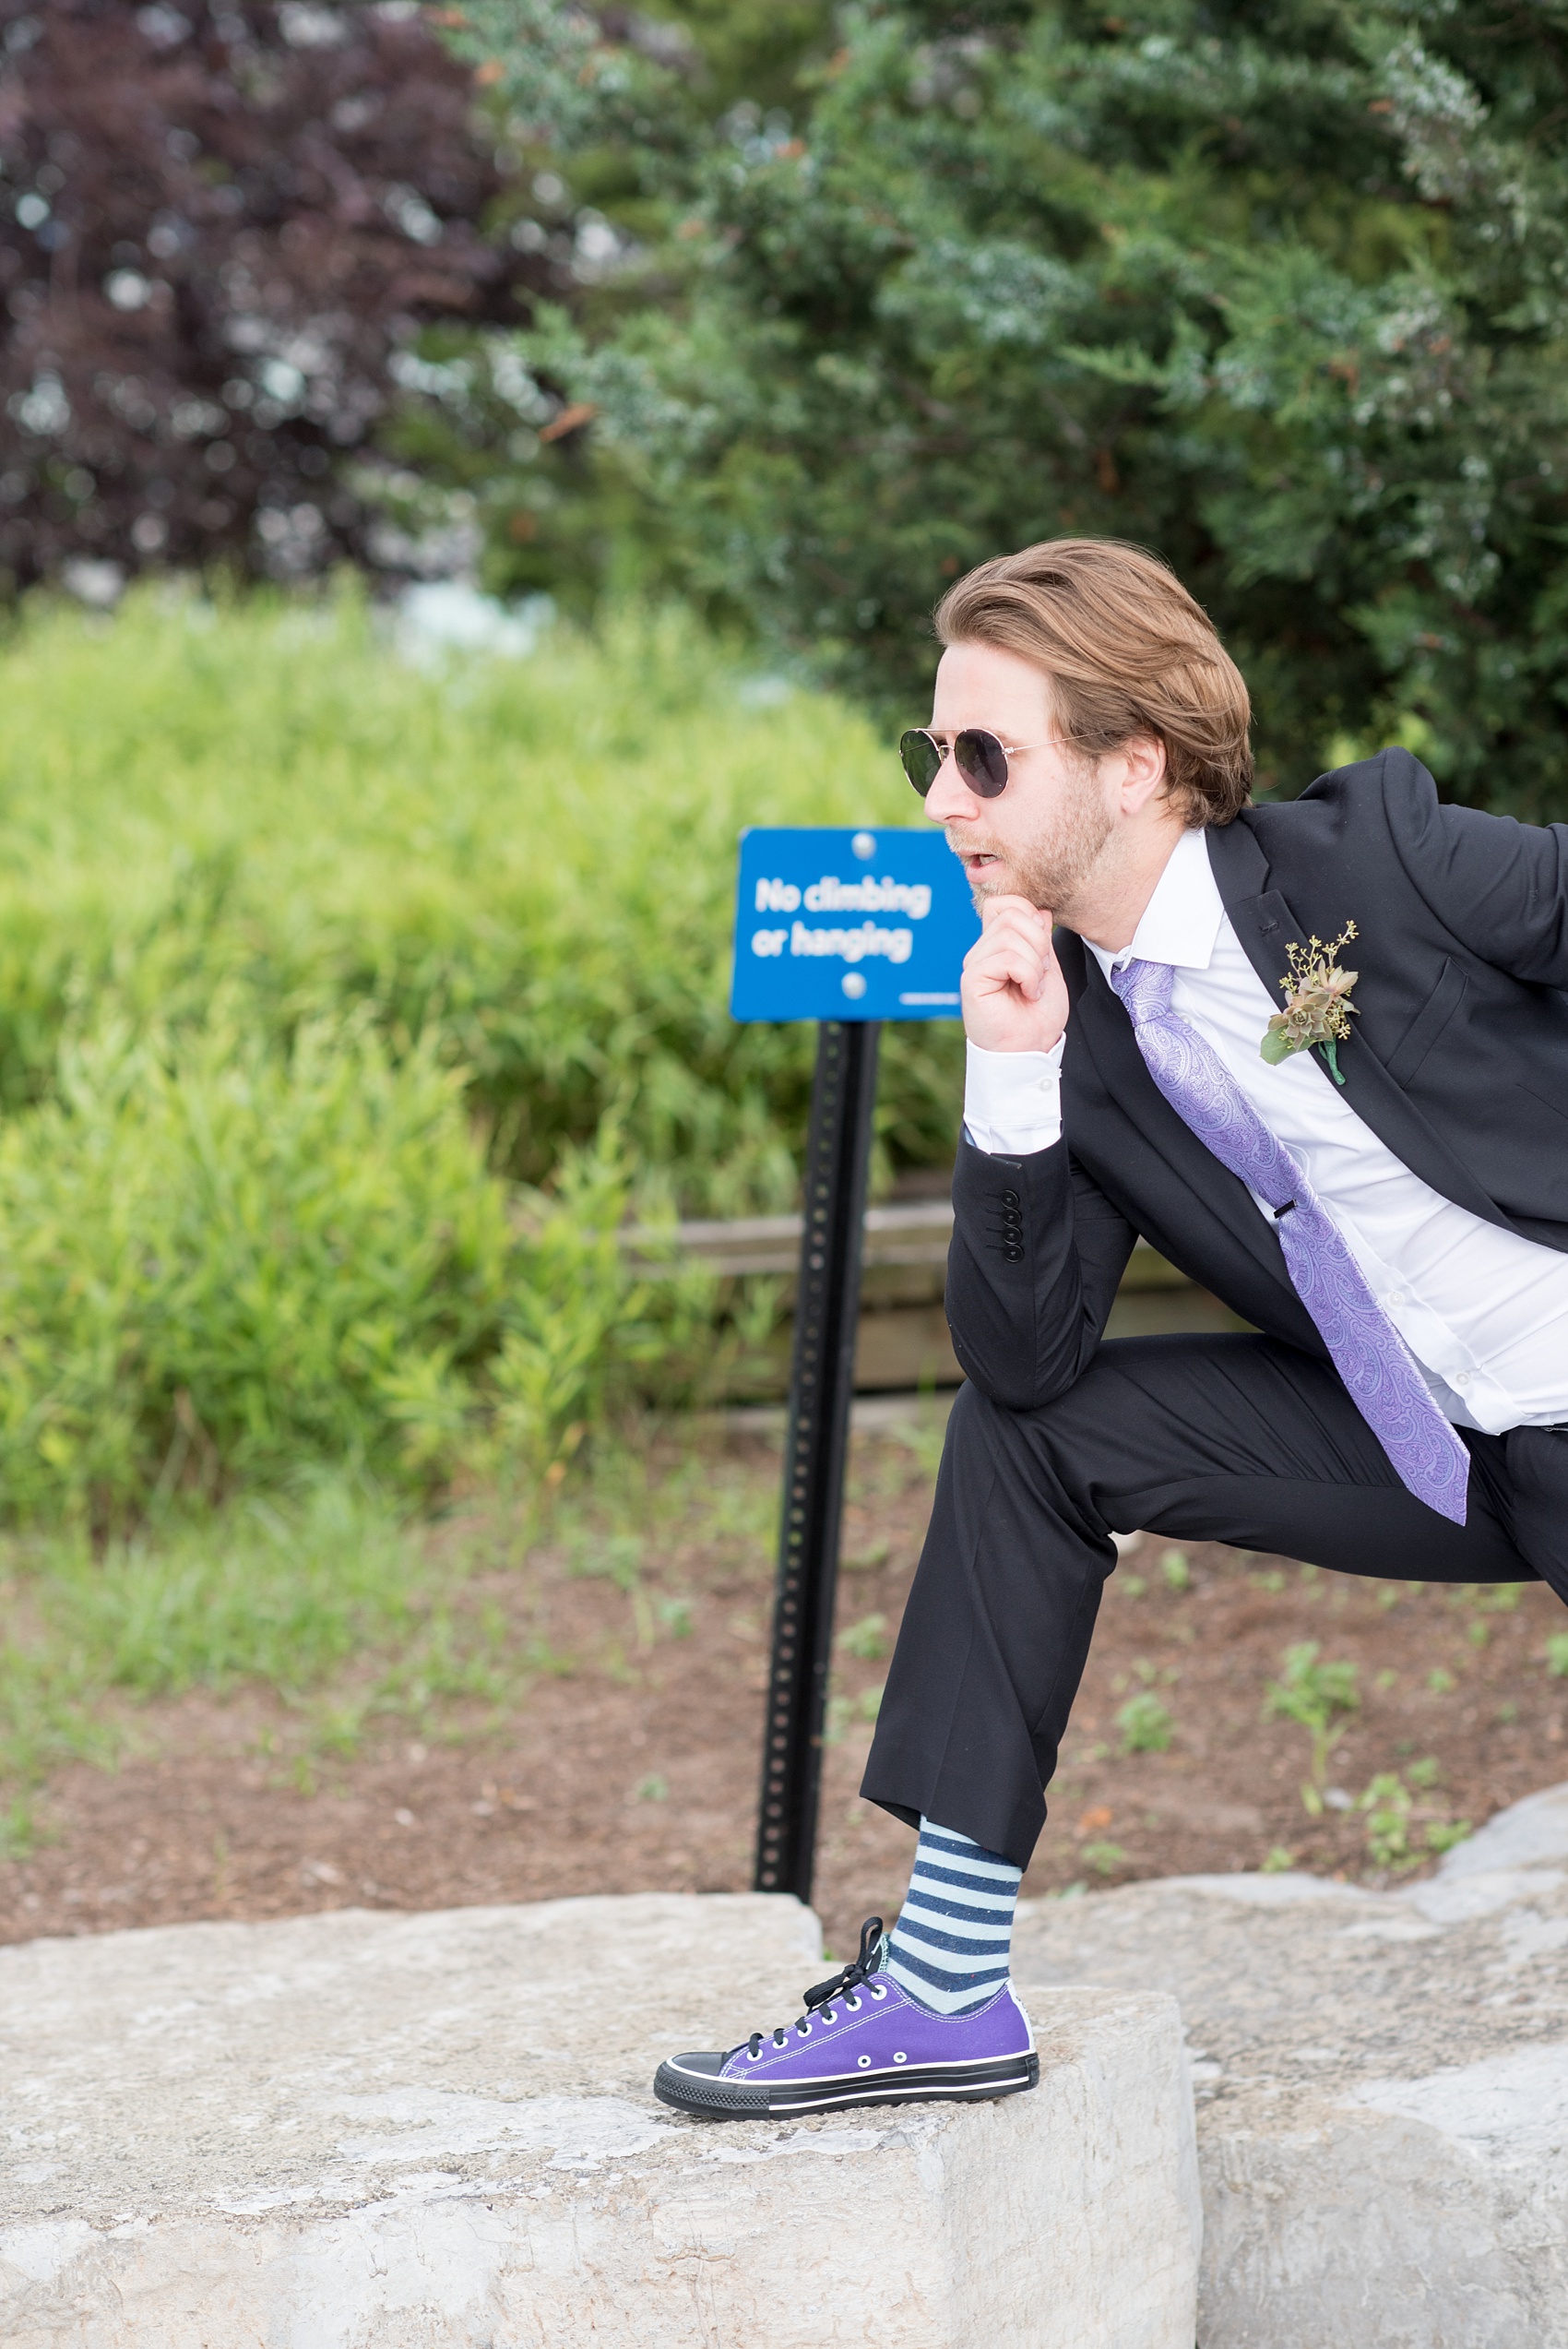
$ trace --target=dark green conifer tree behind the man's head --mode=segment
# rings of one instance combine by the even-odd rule
[[[859,0],[765,61],[751,9],[662,19],[451,33],[610,237],[430,399],[495,580],[634,561],[918,714],[948,578],[1131,538],[1242,660],[1265,789],[1404,740],[1568,813],[1561,0]],[[498,366],[568,395],[570,467]]]

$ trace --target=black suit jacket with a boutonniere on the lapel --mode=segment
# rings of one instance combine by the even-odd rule
[[[1207,834],[1232,928],[1284,1003],[1286,947],[1357,923],[1345,1099],[1444,1198],[1568,1250],[1568,824],[1439,803],[1404,749]],[[1324,1353],[1275,1229],[1155,1088],[1131,1022],[1070,930],[1063,1139],[960,1144],[948,1325],[967,1377],[1030,1409],[1099,1346],[1143,1233],[1270,1337]],[[1312,1055],[1322,1083],[1333,1078]]]

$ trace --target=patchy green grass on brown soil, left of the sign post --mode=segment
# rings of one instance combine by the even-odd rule
[[[538,1637],[530,1604],[502,1607],[500,1576],[540,1548],[559,1553],[570,1574],[624,1593],[627,1649],[646,1651],[690,1637],[697,1604],[650,1593],[646,1560],[699,1525],[718,1562],[765,1576],[777,1506],[772,1473],[716,1456],[699,1423],[646,1414],[608,1433],[592,1480],[547,1496],[488,1487],[451,1517],[432,1520],[364,1475],[305,1466],[291,1489],[178,1496],[101,1541],[80,1525],[9,1534],[0,1858],[38,1837],[33,1790],[49,1771],[113,1769],[143,1743],[160,1698],[282,1698],[284,1764],[305,1792],[322,1759],[352,1755],[378,1722],[486,1734],[530,1680],[575,1668]]]

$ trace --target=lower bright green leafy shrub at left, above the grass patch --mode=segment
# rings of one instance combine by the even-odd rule
[[[547,1468],[702,1283],[629,1280],[606,1158],[516,1214],[462,1078],[366,1010],[61,1055],[0,1128],[0,1494],[127,1522],[310,1459]],[[662,1320],[650,1320],[657,1306]]]

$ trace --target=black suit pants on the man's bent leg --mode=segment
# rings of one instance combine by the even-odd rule
[[[1028,1412],[965,1386],[861,1795],[1028,1865],[1113,1534],[1568,1597],[1568,1431],[1465,1442],[1458,1527],[1404,1489],[1333,1367],[1277,1339],[1113,1339]]]

